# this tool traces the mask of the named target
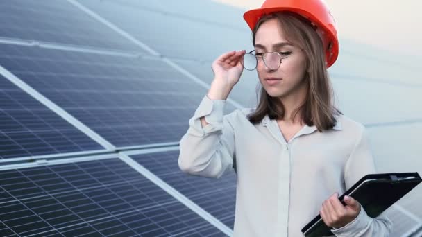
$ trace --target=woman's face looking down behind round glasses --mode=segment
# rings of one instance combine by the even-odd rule
[[[282,99],[303,92],[307,71],[305,54],[287,42],[277,19],[265,21],[255,35],[255,53],[262,55],[265,52],[278,52],[283,58],[280,67],[275,70],[269,69],[262,58],[258,60],[258,78],[269,96]]]

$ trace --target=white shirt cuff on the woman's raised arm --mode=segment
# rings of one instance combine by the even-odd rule
[[[223,128],[223,116],[226,100],[211,100],[204,96],[196,109],[194,116],[189,119],[189,129],[187,132],[203,137],[205,134],[215,132]],[[201,117],[205,117],[208,125],[202,127]]]

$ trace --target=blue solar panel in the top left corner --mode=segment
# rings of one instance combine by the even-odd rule
[[[142,51],[67,1],[1,1],[0,26],[0,37]]]

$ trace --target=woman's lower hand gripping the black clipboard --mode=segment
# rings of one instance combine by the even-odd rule
[[[339,229],[355,220],[359,215],[361,209],[359,202],[348,196],[344,197],[344,202],[346,202],[346,206],[341,204],[338,193],[334,193],[323,202],[319,214],[328,227]]]

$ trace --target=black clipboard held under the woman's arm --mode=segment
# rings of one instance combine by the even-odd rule
[[[339,196],[339,200],[345,205],[343,198],[349,195],[360,202],[369,217],[376,218],[421,182],[417,172],[365,175]],[[326,226],[320,215],[307,223],[302,233],[306,237],[332,236],[331,228]]]

